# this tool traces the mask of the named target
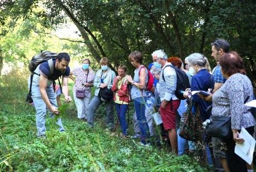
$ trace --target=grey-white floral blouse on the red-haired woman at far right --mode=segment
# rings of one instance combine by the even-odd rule
[[[255,125],[255,119],[250,113],[249,107],[244,105],[244,100],[250,96],[248,102],[253,99],[253,87],[250,79],[243,74],[233,74],[213,94],[214,116],[231,117],[231,128],[240,130]]]

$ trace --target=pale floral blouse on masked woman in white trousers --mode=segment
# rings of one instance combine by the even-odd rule
[[[95,73],[92,69],[89,69],[88,75],[83,71],[82,68],[76,68],[73,70],[73,75],[76,76],[76,84],[73,87],[73,92],[76,90],[85,90],[86,97],[91,97],[91,87],[85,87],[83,84],[93,83],[95,79]]]

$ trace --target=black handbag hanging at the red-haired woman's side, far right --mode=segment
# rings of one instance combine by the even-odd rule
[[[232,136],[231,118],[211,116],[211,122],[206,126],[205,134],[214,138],[228,139]]]

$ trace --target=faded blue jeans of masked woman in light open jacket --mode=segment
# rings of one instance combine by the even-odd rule
[[[91,99],[91,102],[88,107],[88,117],[87,117],[87,123],[93,127],[94,125],[94,114],[95,110],[99,108],[101,105],[101,100],[99,97],[95,96]],[[114,114],[113,114],[113,108],[114,108],[114,101],[111,100],[110,102],[105,102],[106,110],[107,110],[107,125],[112,130],[114,129]]]

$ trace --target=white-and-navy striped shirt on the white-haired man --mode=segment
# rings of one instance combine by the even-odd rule
[[[166,63],[166,65],[171,65],[171,63]],[[160,79],[159,79],[159,97],[161,99],[161,102],[165,99],[170,101],[171,99],[177,100],[174,92],[176,90],[176,84],[177,84],[177,75],[175,72],[175,69],[172,67],[166,67],[165,66],[162,68],[161,73],[160,73]],[[164,74],[164,79],[163,80],[163,74]]]

